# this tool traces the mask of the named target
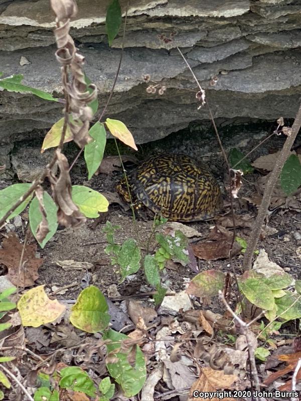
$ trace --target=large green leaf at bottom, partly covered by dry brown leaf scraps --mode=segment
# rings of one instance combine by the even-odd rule
[[[121,385],[124,395],[131,397],[138,394],[143,387],[146,379],[146,365],[143,352],[136,347],[135,364],[131,366],[127,360],[127,356],[131,351],[120,351],[120,341],[125,340],[127,337],[125,334],[118,333],[114,330],[107,330],[103,334],[104,340],[111,340],[111,343],[107,344],[107,351],[111,353],[117,360],[114,363],[107,363],[107,369],[110,375]],[[114,352],[115,351],[115,352]]]

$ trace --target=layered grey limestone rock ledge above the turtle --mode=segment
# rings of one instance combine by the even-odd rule
[[[3,77],[23,74],[24,84],[62,96],[49,3],[0,0],[0,71]],[[123,15],[126,3],[120,0]],[[100,113],[118,67],[122,32],[109,48],[108,0],[77,4],[71,35],[97,85]],[[215,118],[294,117],[301,100],[300,24],[301,0],[131,0],[120,74],[104,118],[122,120],[137,143],[207,120],[177,47],[206,90]],[[167,87],[163,95],[146,92],[157,84]],[[59,103],[1,90],[0,144],[44,136],[61,117]]]

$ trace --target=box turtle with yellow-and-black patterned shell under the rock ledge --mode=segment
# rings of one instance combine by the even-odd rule
[[[159,216],[179,222],[212,219],[222,205],[220,187],[213,175],[184,154],[150,157],[117,184],[126,202],[142,205]]]

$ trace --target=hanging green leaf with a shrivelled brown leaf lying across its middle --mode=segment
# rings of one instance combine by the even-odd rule
[[[47,236],[41,243],[37,239],[38,226],[42,222],[42,213],[40,211],[39,201],[38,201],[37,197],[35,197],[33,199],[32,203],[30,204],[30,207],[29,207],[30,228],[31,228],[31,231],[32,231],[34,237],[39,242],[40,247],[42,249],[45,247],[45,245],[48,243],[48,241],[55,235],[57,228],[58,228],[58,219],[57,219],[58,207],[54,203],[52,197],[47,192],[44,192],[43,200],[44,200],[45,210],[47,213],[46,220],[48,222],[49,233],[47,234]]]

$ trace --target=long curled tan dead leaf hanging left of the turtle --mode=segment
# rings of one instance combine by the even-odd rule
[[[64,154],[59,149],[56,151],[57,165],[60,169],[59,177],[52,171],[48,171],[48,177],[52,188],[52,197],[58,206],[58,222],[63,226],[79,228],[86,222],[86,218],[80,213],[71,196],[71,179],[69,164]]]

